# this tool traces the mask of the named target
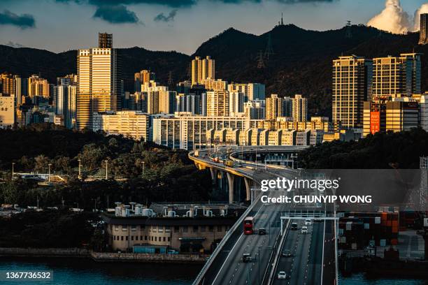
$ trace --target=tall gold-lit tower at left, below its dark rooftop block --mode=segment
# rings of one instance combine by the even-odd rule
[[[117,50],[78,50],[77,128],[92,126],[92,114],[117,110],[121,95]]]

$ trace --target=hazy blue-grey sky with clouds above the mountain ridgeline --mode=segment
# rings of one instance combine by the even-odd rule
[[[0,44],[62,52],[96,47],[99,31],[113,47],[144,47],[192,54],[221,31],[250,34],[285,24],[340,29],[352,24],[413,31],[422,0],[0,0]]]

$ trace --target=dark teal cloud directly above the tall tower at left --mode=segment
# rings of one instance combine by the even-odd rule
[[[93,17],[99,17],[111,24],[136,24],[140,22],[134,12],[123,5],[103,5],[99,6]]]

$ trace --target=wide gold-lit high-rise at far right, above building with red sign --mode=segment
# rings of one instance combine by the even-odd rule
[[[373,59],[373,98],[401,94],[420,94],[422,54]]]

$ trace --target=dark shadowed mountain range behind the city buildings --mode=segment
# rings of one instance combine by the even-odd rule
[[[270,38],[270,40],[269,40]],[[367,58],[399,55],[404,52],[428,54],[428,45],[418,45],[418,33],[390,34],[363,25],[329,31],[309,31],[294,24],[278,25],[256,36],[230,28],[214,36],[192,54],[215,59],[216,78],[229,82],[262,82],[266,94],[303,94],[311,115],[331,115],[331,61],[341,55]],[[272,53],[259,56],[268,43]],[[120,49],[125,89],[132,89],[134,73],[150,68],[157,80],[166,84],[169,72],[174,82],[189,78],[192,57],[178,52],[154,52],[141,47]],[[48,80],[76,73],[76,51],[52,53],[31,48],[0,45],[0,71],[22,76],[41,72]],[[428,88],[428,57],[422,57],[422,90]]]

